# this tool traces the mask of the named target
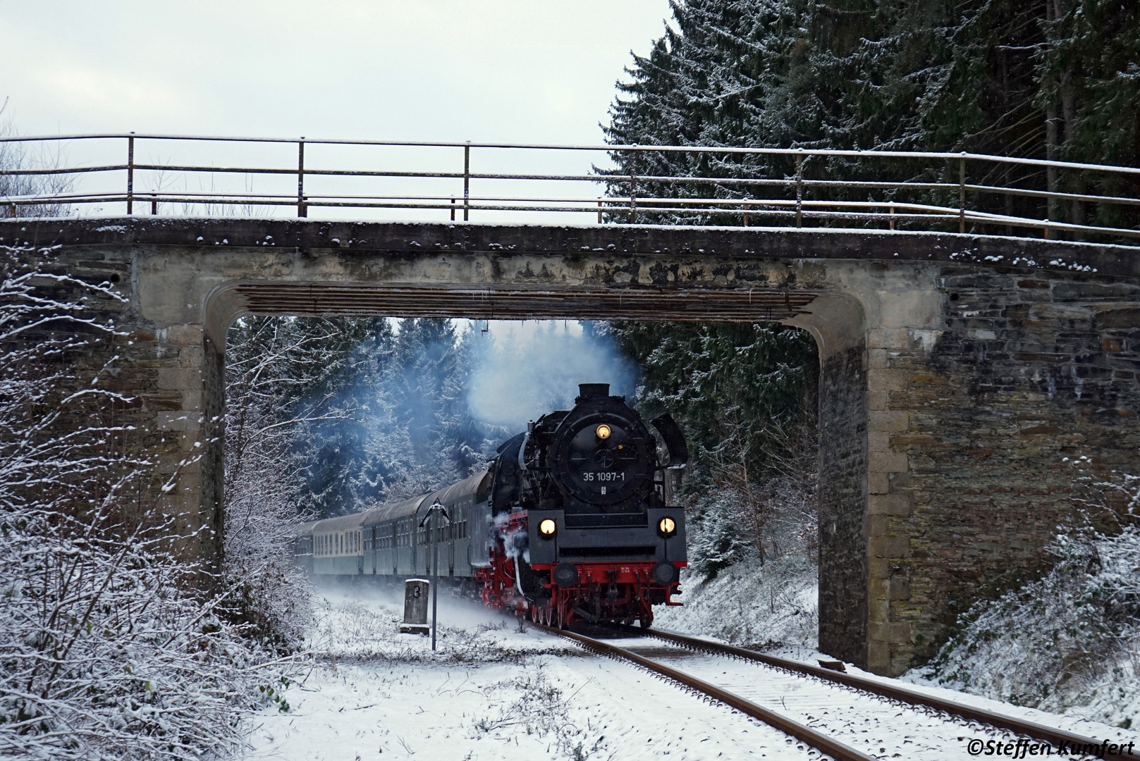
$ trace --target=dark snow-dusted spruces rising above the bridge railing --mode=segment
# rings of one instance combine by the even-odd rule
[[[1140,114],[1140,11],[1110,0],[674,0],[673,27],[629,81],[604,126],[611,144],[771,148],[970,150],[1133,165]],[[788,198],[773,186],[659,182],[652,177],[789,179],[790,157],[651,155],[616,150],[608,193],[675,198]],[[968,167],[971,181],[1033,189],[1134,191],[1135,181],[996,165]],[[958,181],[956,162],[809,158],[807,180]],[[983,173],[984,172],[984,173]],[[638,179],[640,178],[640,179]],[[650,178],[650,179],[646,179]],[[813,189],[806,188],[811,198]],[[881,189],[826,190],[831,198],[956,204],[946,190],[904,198]],[[999,213],[1127,223],[1109,204],[1049,206],[1040,198],[985,195]],[[752,223],[790,223],[754,211]],[[614,221],[629,214],[614,212]],[[640,221],[741,223],[716,213],[653,214]],[[850,224],[852,222],[846,222]],[[903,224],[905,227],[905,224]]]

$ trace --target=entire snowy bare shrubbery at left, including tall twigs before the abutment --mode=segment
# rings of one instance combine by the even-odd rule
[[[87,312],[123,298],[0,254],[0,755],[233,750],[284,672],[194,591],[171,526],[138,527],[124,486],[152,466],[107,422],[130,402],[105,386],[119,336]]]

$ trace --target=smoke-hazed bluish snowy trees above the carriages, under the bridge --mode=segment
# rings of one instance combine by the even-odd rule
[[[245,318],[229,344],[228,456],[261,429],[287,440],[277,472],[302,513],[420,494],[486,463],[488,432],[465,399],[471,336],[449,320]],[[256,478],[228,489],[245,483]]]

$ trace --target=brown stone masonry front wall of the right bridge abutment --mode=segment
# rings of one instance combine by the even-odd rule
[[[938,288],[933,345],[898,330],[868,353],[868,665],[880,673],[929,658],[975,599],[1041,566],[1074,513],[1078,458],[1140,473],[1140,287],[946,267]]]

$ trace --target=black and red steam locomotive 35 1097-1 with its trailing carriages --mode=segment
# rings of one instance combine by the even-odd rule
[[[316,576],[404,578],[432,573],[435,550],[440,575],[491,607],[559,627],[649,627],[653,605],[679,605],[685,521],[670,502],[673,474],[689,457],[671,417],[650,424],[663,458],[624,396],[605,383],[580,384],[573,409],[530,423],[486,472],[308,524],[298,559]]]

